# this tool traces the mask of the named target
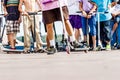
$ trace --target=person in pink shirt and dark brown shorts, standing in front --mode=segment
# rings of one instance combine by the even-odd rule
[[[49,48],[47,49],[50,53],[56,53],[55,48],[55,40],[54,40],[54,30],[53,30],[53,23],[55,21],[62,20],[60,7],[62,7],[62,12],[64,16],[64,22],[66,31],[70,36],[70,40],[74,47],[78,47],[79,44],[75,41],[74,33],[72,26],[69,22],[69,14],[67,8],[67,0],[40,0],[42,11],[43,11],[43,19],[47,29],[47,44],[50,44]],[[60,3],[59,3],[60,2]],[[59,26],[58,26],[59,27]]]

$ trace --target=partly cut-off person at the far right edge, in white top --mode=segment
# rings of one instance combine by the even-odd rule
[[[112,35],[114,34],[114,32],[117,29],[118,24],[120,22],[120,0],[117,1],[117,2],[112,2],[109,5],[109,8],[111,10],[111,14],[112,14],[113,19],[114,19],[114,25],[113,25],[113,28],[112,28],[112,31],[111,31],[111,37],[112,37]]]

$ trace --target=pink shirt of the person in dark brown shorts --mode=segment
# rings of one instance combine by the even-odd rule
[[[43,11],[47,11],[47,10],[51,10],[51,9],[55,9],[55,8],[59,8],[60,6],[66,6],[67,5],[67,0],[55,0],[53,2],[49,2],[46,4],[42,3],[41,1],[41,6],[42,6],[42,10]],[[60,3],[59,3],[60,1]]]

